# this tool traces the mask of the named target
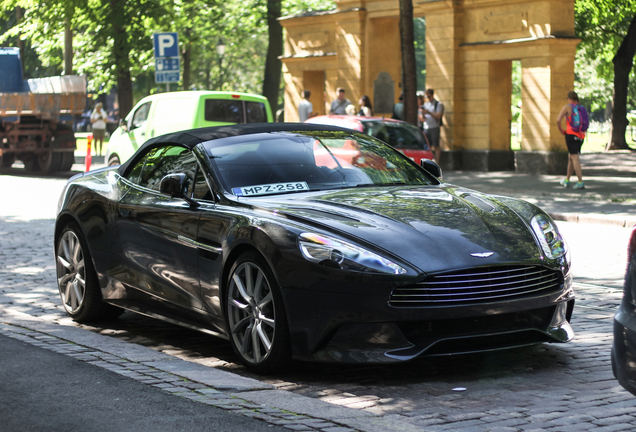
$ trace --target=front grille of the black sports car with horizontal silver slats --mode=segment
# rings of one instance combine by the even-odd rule
[[[561,272],[540,266],[482,267],[431,275],[414,285],[393,290],[389,304],[396,307],[451,306],[528,295],[551,294],[562,289]]]

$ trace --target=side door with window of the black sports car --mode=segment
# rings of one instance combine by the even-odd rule
[[[191,316],[202,311],[198,250],[188,243],[198,231],[200,210],[160,193],[161,179],[184,173],[188,190],[198,164],[177,145],[152,148],[126,176],[129,191],[118,203],[120,240],[126,258],[124,282],[131,301],[143,307]]]

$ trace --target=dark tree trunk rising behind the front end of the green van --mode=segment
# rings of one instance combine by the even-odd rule
[[[130,76],[130,44],[126,34],[126,0],[110,1],[110,23],[113,29],[113,58],[117,76],[119,118],[128,115],[133,107],[132,79]]]

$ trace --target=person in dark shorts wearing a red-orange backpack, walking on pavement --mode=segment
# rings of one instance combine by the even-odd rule
[[[563,130],[561,126],[564,118],[566,124],[565,130]],[[557,126],[559,127],[559,131],[565,135],[565,144],[568,147],[569,153],[567,173],[565,178],[560,182],[564,187],[570,187],[570,176],[576,173],[578,182],[572,186],[572,188],[585,189],[579,155],[589,124],[590,120],[587,111],[583,105],[579,104],[579,96],[576,92],[569,92],[568,104],[561,109],[559,117],[557,117]]]

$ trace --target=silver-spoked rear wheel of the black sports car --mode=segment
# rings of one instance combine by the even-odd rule
[[[102,301],[97,274],[84,237],[75,223],[68,224],[55,247],[57,283],[62,305],[77,322],[115,318],[122,309]]]

